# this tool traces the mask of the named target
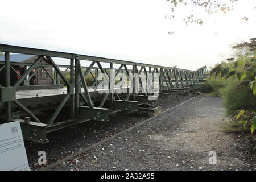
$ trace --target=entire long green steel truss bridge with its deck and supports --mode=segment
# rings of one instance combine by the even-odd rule
[[[117,92],[121,88],[115,88],[115,92],[112,93],[110,92],[110,83],[109,88],[106,89],[107,92],[99,93],[97,92],[97,86],[100,84],[100,80],[97,78],[99,73],[105,73],[108,76],[107,80],[112,80],[111,74],[108,74],[110,69],[115,70],[115,76],[118,73],[125,73],[129,77],[129,73],[137,73],[146,76],[146,80],[149,73],[158,74],[159,97],[157,99],[168,99],[172,95],[195,92],[208,76],[206,66],[191,71],[176,67],[162,67],[6,44],[0,44],[0,51],[5,53],[5,61],[0,61],[0,72],[4,72],[5,75],[4,85],[0,85],[0,123],[19,121],[23,138],[39,143],[48,142],[47,133],[89,120],[106,121],[110,113],[117,111],[142,110],[158,113],[159,108],[151,107],[156,100],[152,99],[154,97],[152,93],[148,93],[147,89],[144,89],[141,78],[139,79],[141,88],[139,93]],[[15,63],[10,61],[10,53],[38,55],[38,59],[34,63]],[[53,61],[55,57],[64,58],[68,65],[57,65]],[[63,80],[67,88],[48,88],[45,85],[38,86],[36,90],[30,89],[30,87],[35,87],[29,85],[32,76],[39,68],[49,66],[42,63],[43,58],[48,60],[54,69],[52,75],[45,69],[53,83],[59,85],[60,80]],[[86,63],[89,66],[83,67],[81,63]],[[102,64],[109,66],[103,67]],[[28,69],[20,75],[13,68],[14,65],[24,65]],[[113,65],[117,68],[113,68]],[[20,77],[13,85],[11,85],[11,69]],[[33,69],[35,72],[31,74]],[[65,77],[67,71],[69,71],[70,79]],[[92,86],[88,86],[86,83],[88,75],[93,77]],[[135,81],[133,80],[131,84],[135,84]],[[26,86],[27,90],[20,90],[22,86]],[[37,112],[49,110],[51,110],[51,117],[47,121],[40,121],[36,116]],[[65,119],[58,120],[57,117],[61,110],[65,110],[67,116]],[[21,119],[22,114],[26,114],[26,117]]]

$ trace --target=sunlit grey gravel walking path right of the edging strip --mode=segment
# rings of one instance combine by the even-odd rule
[[[220,98],[200,95],[53,169],[255,170],[250,144],[221,131],[224,111]]]

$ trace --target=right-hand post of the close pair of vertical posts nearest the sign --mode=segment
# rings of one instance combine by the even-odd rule
[[[75,118],[79,117],[79,59],[75,59]]]

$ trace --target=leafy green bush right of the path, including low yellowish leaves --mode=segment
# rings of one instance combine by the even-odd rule
[[[241,125],[246,129],[250,126],[251,133],[256,129],[256,38],[233,46],[236,50],[234,57],[222,62],[210,72],[215,75],[212,86],[218,90],[223,98],[228,115],[233,114],[233,121],[227,123],[226,129],[239,129]],[[223,81],[217,86],[216,81]],[[234,114],[237,116],[234,118]],[[237,130],[237,129],[236,129]]]

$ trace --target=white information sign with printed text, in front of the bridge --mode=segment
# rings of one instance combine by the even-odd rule
[[[0,170],[30,170],[18,121],[0,125]]]

